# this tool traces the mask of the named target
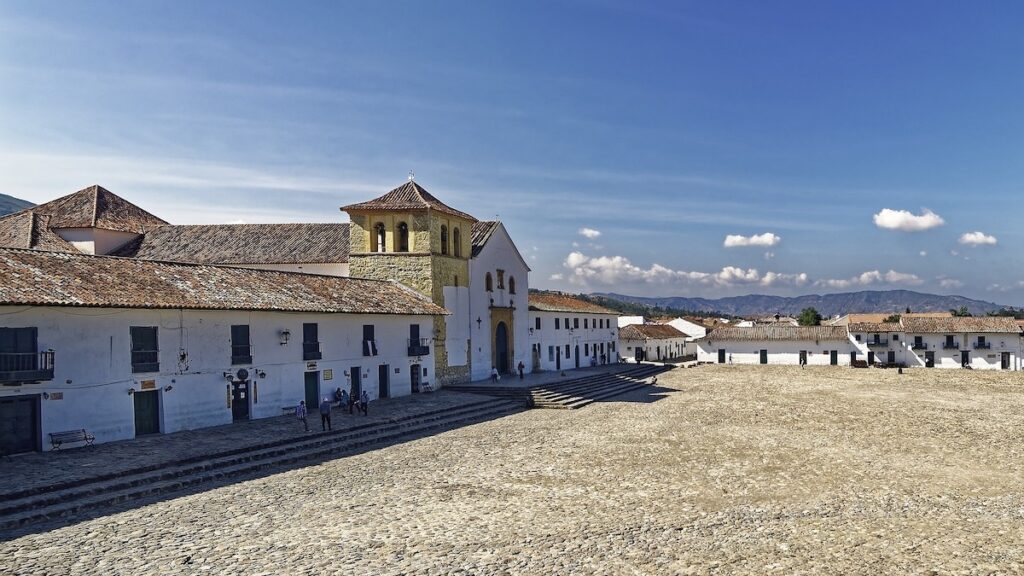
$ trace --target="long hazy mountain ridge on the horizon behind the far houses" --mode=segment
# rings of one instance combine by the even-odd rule
[[[1002,306],[984,300],[972,300],[964,296],[941,296],[910,290],[864,290],[840,294],[808,294],[805,296],[767,296],[751,294],[728,298],[685,298],[681,296],[645,298],[614,293],[596,293],[625,302],[648,306],[672,307],[692,311],[715,311],[724,315],[754,317],[782,314],[796,316],[805,307],[812,306],[822,316],[849,313],[892,313],[909,307],[913,312],[945,312],[951,308],[967,308],[974,315],[996,312]]]

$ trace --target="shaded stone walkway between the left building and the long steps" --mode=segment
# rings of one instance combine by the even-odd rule
[[[369,416],[350,415],[347,410],[335,408],[331,412],[331,423],[333,429],[342,430],[438,409],[457,408],[483,399],[485,397],[450,390],[381,399],[370,403]],[[308,434],[318,434],[321,418],[315,407],[310,411],[308,420]],[[305,434],[302,423],[289,414],[95,446],[65,448],[57,452],[0,458],[0,495],[141,467],[160,467],[177,460],[299,438]]]

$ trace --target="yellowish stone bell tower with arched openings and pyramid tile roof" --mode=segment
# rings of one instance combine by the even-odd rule
[[[471,233],[476,218],[437,200],[410,177],[380,198],[342,207],[348,213],[349,276],[395,280],[445,304],[445,288],[469,283]],[[452,291],[449,291],[452,293]],[[468,381],[469,359],[449,366],[449,347],[462,355],[465,342],[449,339],[445,319],[434,318],[431,338],[437,383]]]

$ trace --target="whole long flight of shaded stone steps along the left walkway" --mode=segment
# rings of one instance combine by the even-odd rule
[[[52,485],[20,493],[0,494],[0,538],[3,531],[49,520],[68,518],[139,498],[171,494],[232,477],[282,468],[299,462],[336,458],[401,441],[492,420],[519,412],[522,405],[508,399],[487,399],[455,408],[438,409],[368,423],[344,430],[313,433],[243,449],[165,462],[75,483]]]

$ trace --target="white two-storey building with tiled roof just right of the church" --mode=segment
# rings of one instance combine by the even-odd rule
[[[527,370],[566,370],[618,362],[617,315],[557,292],[529,294]]]

